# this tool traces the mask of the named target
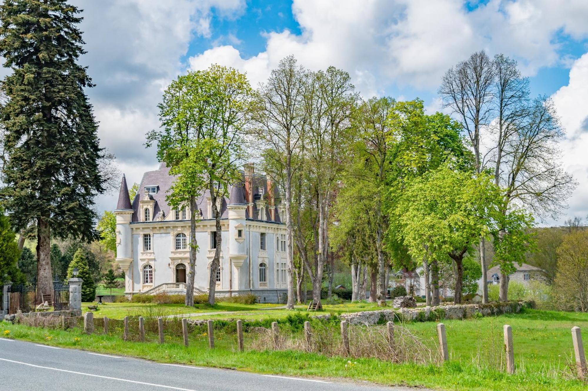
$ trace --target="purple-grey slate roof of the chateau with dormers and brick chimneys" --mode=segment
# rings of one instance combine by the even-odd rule
[[[135,210],[135,213],[133,213],[133,218],[132,221],[133,222],[137,222],[139,221],[138,218],[138,208],[139,208],[139,200],[141,200],[142,197],[145,196],[145,186],[157,186],[158,190],[156,194],[151,194],[151,198],[153,200],[155,200],[155,208],[153,210],[153,217],[155,220],[155,217],[157,217],[159,215],[160,211],[163,211],[163,213],[165,214],[165,216],[167,217],[169,215],[169,213],[171,212],[171,207],[170,205],[168,205],[168,203],[165,200],[166,195],[168,194],[168,190],[169,188],[172,186],[173,180],[175,180],[175,176],[172,176],[171,174],[169,174],[169,168],[165,166],[164,163],[162,163],[159,168],[155,171],[148,171],[145,174],[143,174],[143,178],[141,180],[141,183],[139,184],[139,190],[137,191],[137,194],[135,195],[135,199],[132,202],[132,208]],[[229,214],[228,214],[228,208],[227,205],[229,203],[238,203],[238,204],[246,204],[246,200],[245,200],[245,184],[243,183],[243,181],[245,180],[245,174],[242,173],[242,183],[240,184],[236,184],[236,186],[231,186],[230,190],[229,190],[229,196],[230,198],[225,197],[225,199],[223,200],[222,203],[222,207],[221,207],[221,218],[228,218]],[[253,185],[253,216],[249,216],[249,212],[246,211],[245,213],[245,217],[246,218],[252,218],[253,220],[259,220],[259,210],[257,208],[257,205],[255,204],[255,201],[258,201],[261,198],[261,195],[259,193],[259,188],[263,188],[263,194],[266,194],[268,192],[268,186],[267,186],[267,180],[265,176],[261,176],[261,175],[256,175],[253,174],[253,181],[252,181],[252,185]],[[237,187],[237,188],[235,188]],[[278,191],[277,189],[274,189],[274,197],[276,199],[276,205],[278,204]],[[210,191],[206,190],[205,193],[203,195],[201,195],[201,197],[198,198],[198,200],[196,200],[196,205],[199,209],[199,211],[201,212],[202,215],[202,219],[208,219],[208,218],[212,218],[212,216],[208,216],[208,208],[207,208],[207,203],[206,201],[208,200],[208,197],[210,196]],[[261,213],[263,215],[265,215],[265,217],[262,220],[265,221],[269,221],[269,210],[268,207],[266,206],[264,211],[261,211]],[[276,223],[281,223],[282,220],[278,214],[278,207],[275,207],[275,222]]]

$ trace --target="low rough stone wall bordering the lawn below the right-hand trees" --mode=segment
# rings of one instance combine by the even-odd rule
[[[381,309],[354,314],[342,314],[340,317],[352,324],[374,325],[387,321],[427,322],[441,319],[466,319],[475,316],[490,316],[506,313],[518,313],[523,308],[533,308],[530,301],[511,301],[490,304],[440,305],[435,307]],[[476,315],[479,314],[479,315]]]

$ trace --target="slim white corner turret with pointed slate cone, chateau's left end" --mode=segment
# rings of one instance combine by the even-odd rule
[[[129,189],[126,186],[126,178],[123,174],[121,181],[121,190],[118,194],[118,203],[116,204],[116,262],[125,272],[125,291],[129,292],[132,288],[132,277],[129,273],[133,262],[132,255],[132,232],[131,219],[133,217],[133,207],[129,198]]]

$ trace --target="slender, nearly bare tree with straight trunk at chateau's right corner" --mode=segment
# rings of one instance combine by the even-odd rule
[[[300,159],[296,157],[305,129],[305,116],[300,110],[305,87],[304,75],[305,70],[297,64],[294,56],[280,61],[268,81],[259,87],[260,110],[256,119],[258,126],[254,129],[255,137],[267,151],[264,156],[266,170],[273,173],[284,195],[288,241],[288,309],[294,308],[292,180],[300,167]]]

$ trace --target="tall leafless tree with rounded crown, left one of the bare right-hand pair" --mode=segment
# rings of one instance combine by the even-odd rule
[[[455,118],[466,130],[474,151],[476,172],[482,169],[480,130],[492,119],[496,68],[484,50],[473,53],[469,59],[447,70],[439,88],[444,107],[453,110]],[[482,264],[482,301],[488,302],[486,285],[487,262],[485,240],[480,238],[480,262]]]

